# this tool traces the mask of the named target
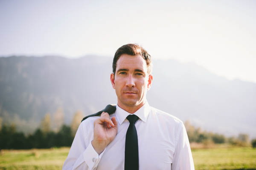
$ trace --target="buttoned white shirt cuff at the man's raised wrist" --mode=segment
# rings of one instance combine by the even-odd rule
[[[84,153],[83,153],[84,161],[86,162],[86,164],[88,165],[90,170],[92,170],[94,167],[98,166],[99,161],[102,158],[102,155],[105,152],[105,150],[103,150],[103,152],[101,154],[98,154],[94,150],[93,145],[90,142],[90,144],[88,145],[86,150],[84,150]]]

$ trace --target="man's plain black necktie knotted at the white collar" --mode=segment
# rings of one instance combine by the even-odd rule
[[[139,170],[138,136],[135,122],[137,115],[127,116],[130,125],[125,138],[125,170]]]

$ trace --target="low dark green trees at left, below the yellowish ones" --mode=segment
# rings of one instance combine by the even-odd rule
[[[71,146],[73,141],[71,128],[63,125],[58,133],[43,132],[40,128],[33,134],[17,132],[15,125],[3,125],[0,131],[0,149],[32,149]]]

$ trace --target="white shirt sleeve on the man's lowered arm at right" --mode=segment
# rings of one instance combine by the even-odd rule
[[[183,123],[181,124],[180,135],[176,140],[172,170],[195,170],[186,128]]]

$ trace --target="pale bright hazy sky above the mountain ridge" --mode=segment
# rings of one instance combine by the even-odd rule
[[[255,30],[255,0],[0,0],[0,56],[113,56],[138,43],[154,58],[256,82]]]

